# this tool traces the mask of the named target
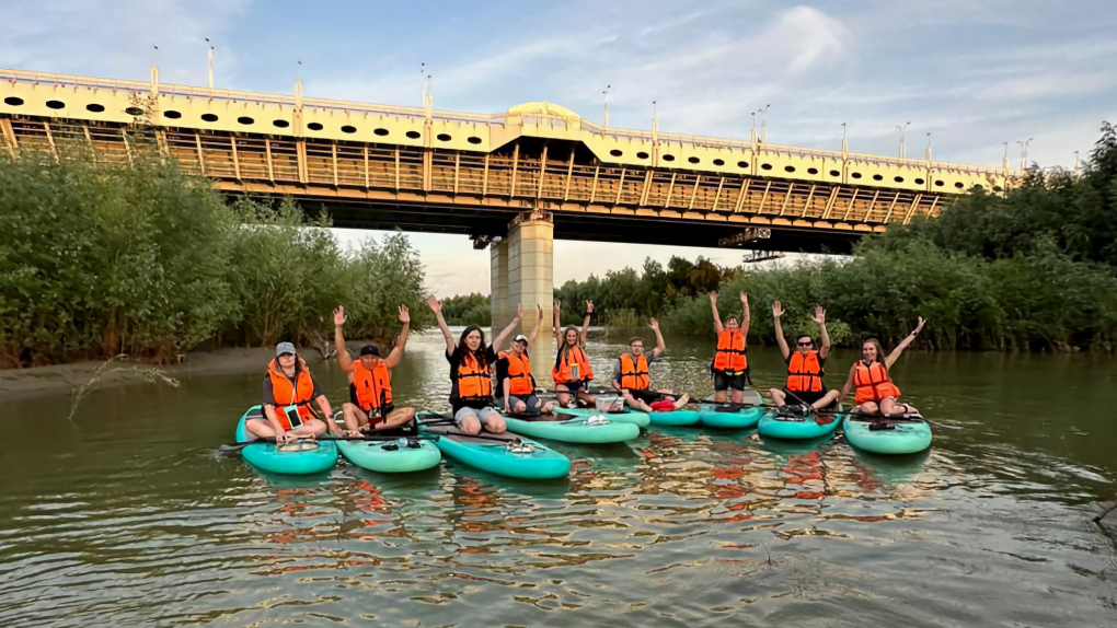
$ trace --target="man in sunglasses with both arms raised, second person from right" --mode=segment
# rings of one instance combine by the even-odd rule
[[[809,335],[802,335],[795,340],[795,351],[787,347],[787,341],[783,337],[783,327],[780,325],[780,317],[783,316],[783,306],[780,301],[772,303],[772,316],[775,318],[775,341],[783,351],[783,359],[787,363],[787,384],[782,388],[772,388],[772,403],[777,406],[809,405],[815,410],[829,408],[837,405],[838,390],[827,390],[822,383],[825,371],[822,365],[830,355],[830,335],[827,334],[827,311],[821,307],[814,308],[814,320],[819,326],[819,336],[822,338],[822,348],[814,349],[814,340]],[[808,408],[802,408],[804,412]]]

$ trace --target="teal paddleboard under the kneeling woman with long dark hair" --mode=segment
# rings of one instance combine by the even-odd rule
[[[420,413],[418,419],[445,419],[446,416]],[[460,463],[508,477],[545,480],[570,474],[570,458],[546,445],[508,434],[481,434],[476,438],[452,425],[420,425],[420,434],[438,435],[442,455]]]

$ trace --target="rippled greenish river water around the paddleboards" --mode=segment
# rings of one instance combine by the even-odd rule
[[[599,380],[626,340],[591,340]],[[446,407],[441,342],[412,337],[398,403]],[[709,342],[668,342],[653,381],[708,393]],[[779,385],[777,350],[750,358]],[[0,626],[1117,626],[1090,521],[1117,474],[1108,357],[909,352],[892,377],[956,428],[915,456],[653,427],[553,444],[553,482],[261,475],[216,450],[262,367],[102,389],[74,423],[66,395],[6,403]],[[338,405],[344,375],[312,368]]]

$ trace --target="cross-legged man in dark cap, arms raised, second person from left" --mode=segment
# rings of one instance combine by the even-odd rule
[[[392,369],[403,359],[403,348],[408,344],[411,313],[407,306],[400,306],[400,322],[403,325],[395,347],[386,358],[380,357],[380,347],[365,345],[357,361],[345,348],[345,308],[334,310],[334,347],[337,363],[350,380],[350,400],[342,405],[345,426],[351,432],[375,432],[378,436],[403,436],[418,434],[414,408],[398,408],[392,404]]]

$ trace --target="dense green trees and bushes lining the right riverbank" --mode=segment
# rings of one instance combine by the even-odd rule
[[[939,349],[1109,350],[1117,332],[1117,134],[1104,123],[1080,175],[1033,166],[1004,196],[977,187],[937,219],[890,225],[853,257],[774,269],[720,269],[699,258],[647,260],[640,271],[569,281],[555,290],[564,323],[592,299],[608,326],[661,317],[676,334],[712,334],[709,299],[752,307],[753,341],[773,339],[772,301],[789,334],[814,334],[809,312],[827,308],[831,337],[887,344],[928,320],[919,342]],[[480,299],[477,296],[477,299]],[[480,312],[478,318],[484,318]]]

